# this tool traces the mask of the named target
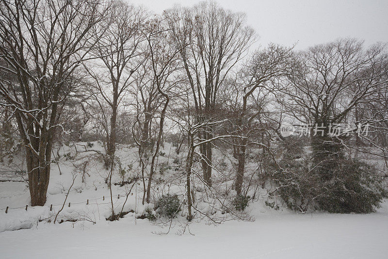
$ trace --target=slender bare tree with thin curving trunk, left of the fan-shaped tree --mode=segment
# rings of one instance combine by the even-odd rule
[[[155,173],[157,156],[162,144],[163,126],[167,107],[171,98],[171,90],[179,82],[177,71],[177,51],[170,43],[170,36],[160,17],[150,19],[148,26],[142,30],[146,37],[147,61],[138,70],[136,86],[133,94],[136,99],[136,124],[140,134],[133,137],[138,145],[138,154],[143,179],[149,159],[151,158],[148,183],[143,180],[143,204],[150,202],[151,183]],[[135,126],[135,125],[134,125]],[[152,134],[155,128],[155,136]]]

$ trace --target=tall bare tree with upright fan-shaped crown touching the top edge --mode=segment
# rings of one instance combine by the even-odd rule
[[[216,121],[220,85],[248,50],[254,31],[245,26],[245,15],[224,10],[215,2],[201,2],[192,8],[176,7],[165,12],[165,17],[174,44],[180,49],[196,121]],[[198,135],[206,140],[213,138],[213,127],[203,124]],[[200,152],[203,175],[211,185],[211,141],[204,141]]]

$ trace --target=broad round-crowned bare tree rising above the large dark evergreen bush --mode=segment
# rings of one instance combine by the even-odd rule
[[[322,130],[312,136],[317,163],[341,155],[343,141],[328,134],[330,125],[348,122],[358,104],[387,87],[386,63],[384,44],[364,49],[356,39],[339,39],[300,53],[299,65],[293,67],[290,77],[286,107],[295,119]],[[327,177],[331,167],[331,163],[322,165]]]

